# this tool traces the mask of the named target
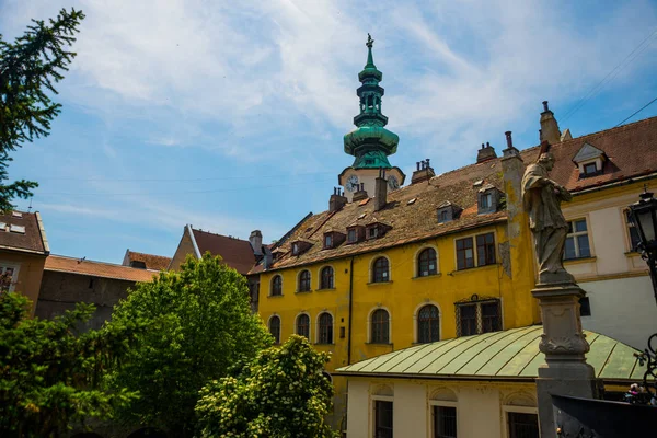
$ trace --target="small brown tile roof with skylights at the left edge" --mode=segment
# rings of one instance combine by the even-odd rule
[[[0,215],[0,223],[4,224],[0,227],[1,249],[38,254],[49,252],[38,212],[13,211]],[[11,226],[22,227],[25,232],[11,231]],[[14,228],[14,230],[19,229]]]

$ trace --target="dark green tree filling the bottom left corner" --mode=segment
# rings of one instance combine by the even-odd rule
[[[111,418],[135,395],[99,384],[129,347],[135,324],[80,334],[91,304],[54,320],[30,319],[28,309],[24,296],[0,292],[0,436],[59,436],[72,422]]]

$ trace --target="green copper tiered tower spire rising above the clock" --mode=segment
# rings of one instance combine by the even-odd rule
[[[371,35],[367,34],[367,64],[358,73],[361,85],[356,90],[360,99],[360,114],[354,117],[357,128],[344,138],[345,152],[355,157],[354,169],[391,169],[388,155],[396,152],[400,141],[396,134],[384,128],[388,125],[388,117],[381,112],[384,90],[379,85],[383,73],[374,66],[373,44]]]

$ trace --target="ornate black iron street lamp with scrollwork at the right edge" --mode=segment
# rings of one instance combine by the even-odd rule
[[[638,232],[638,246],[642,258],[648,263],[653,290],[657,301],[657,199],[647,189],[641,200],[630,206],[630,218]],[[637,355],[641,365],[647,362],[644,388],[652,397],[657,397],[657,333],[648,338],[648,347]]]

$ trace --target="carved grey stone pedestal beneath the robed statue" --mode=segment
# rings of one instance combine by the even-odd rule
[[[551,283],[539,283],[531,291],[539,300],[543,319],[539,349],[545,355],[545,365],[539,367],[537,379],[543,438],[556,436],[552,394],[585,399],[599,395],[593,367],[585,358],[589,344],[581,333],[579,318],[579,298],[585,292],[570,279],[564,273],[562,278],[551,278]]]

